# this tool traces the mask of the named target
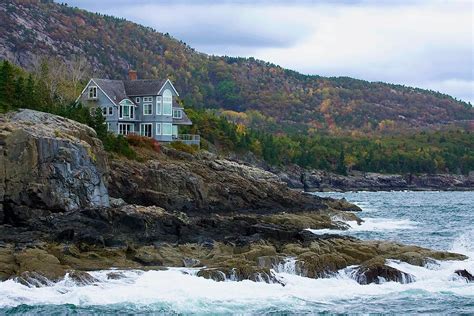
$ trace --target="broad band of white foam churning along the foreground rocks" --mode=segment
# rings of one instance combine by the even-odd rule
[[[468,246],[472,245],[469,244]],[[332,278],[310,279],[295,275],[294,259],[275,267],[277,278],[284,282],[267,284],[252,281],[215,282],[195,275],[196,269],[166,271],[123,271],[124,278],[107,278],[110,271],[91,274],[99,282],[79,286],[66,277],[52,286],[30,288],[13,280],[0,283],[0,307],[20,304],[74,304],[77,306],[109,304],[165,304],[175,312],[246,312],[285,306],[301,310],[306,304],[335,304],[340,300],[354,300],[373,296],[417,293],[452,293],[474,299],[474,283],[456,276],[457,269],[474,272],[474,260],[437,262],[436,265],[417,267],[389,260],[388,265],[415,276],[410,284],[386,282],[380,285],[359,285],[351,277],[351,270],[343,269]],[[342,290],[343,289],[343,290]],[[303,304],[304,306],[302,306]],[[304,310],[304,308],[302,309]]]

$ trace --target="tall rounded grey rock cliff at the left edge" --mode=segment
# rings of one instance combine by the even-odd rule
[[[93,129],[32,110],[0,116],[0,222],[108,206],[106,174]]]

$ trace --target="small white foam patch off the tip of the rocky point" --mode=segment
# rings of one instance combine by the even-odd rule
[[[335,218],[334,220],[339,220]],[[341,220],[339,220],[341,221]],[[390,219],[390,218],[364,218],[362,224],[355,221],[341,221],[349,226],[348,230],[339,229],[308,229],[314,234],[347,234],[351,232],[380,232],[401,229],[414,229],[416,222],[408,219]]]

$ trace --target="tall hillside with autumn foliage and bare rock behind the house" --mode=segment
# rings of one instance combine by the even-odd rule
[[[470,104],[433,91],[209,56],[151,28],[50,1],[0,2],[0,59],[31,69],[41,56],[83,56],[108,78],[124,78],[129,68],[141,78],[169,77],[187,106],[222,109],[278,134],[472,129],[474,120]]]

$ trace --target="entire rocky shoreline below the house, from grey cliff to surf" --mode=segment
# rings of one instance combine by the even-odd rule
[[[107,156],[92,129],[54,115],[1,115],[0,280],[41,286],[69,274],[87,284],[91,270],[199,267],[216,281],[278,283],[272,269],[291,258],[311,278],[357,266],[361,284],[411,282],[385,260],[466,258],[312,234],[347,229],[360,209],[291,190],[259,168],[172,149],[141,156]]]

